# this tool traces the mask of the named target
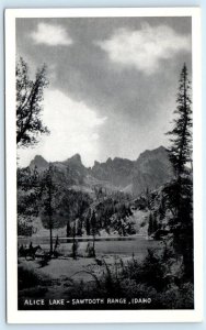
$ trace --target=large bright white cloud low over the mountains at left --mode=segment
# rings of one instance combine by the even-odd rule
[[[106,118],[100,118],[95,109],[70,99],[60,90],[47,90],[42,119],[50,135],[42,135],[33,148],[20,150],[21,166],[27,166],[36,154],[47,161],[65,161],[79,153],[87,166],[99,158],[99,130]]]

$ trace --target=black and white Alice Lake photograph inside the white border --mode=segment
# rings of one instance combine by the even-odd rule
[[[18,311],[198,305],[192,19],[15,18]]]

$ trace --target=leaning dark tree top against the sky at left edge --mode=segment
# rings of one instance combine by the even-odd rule
[[[44,88],[48,85],[45,65],[35,79],[28,77],[28,66],[20,57],[16,69],[16,144],[28,146],[37,143],[38,135],[48,133],[41,119]]]

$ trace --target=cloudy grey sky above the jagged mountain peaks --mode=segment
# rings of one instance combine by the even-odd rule
[[[42,120],[50,134],[19,148],[85,166],[168,146],[179,76],[192,72],[191,18],[16,19],[16,59],[47,66]]]

